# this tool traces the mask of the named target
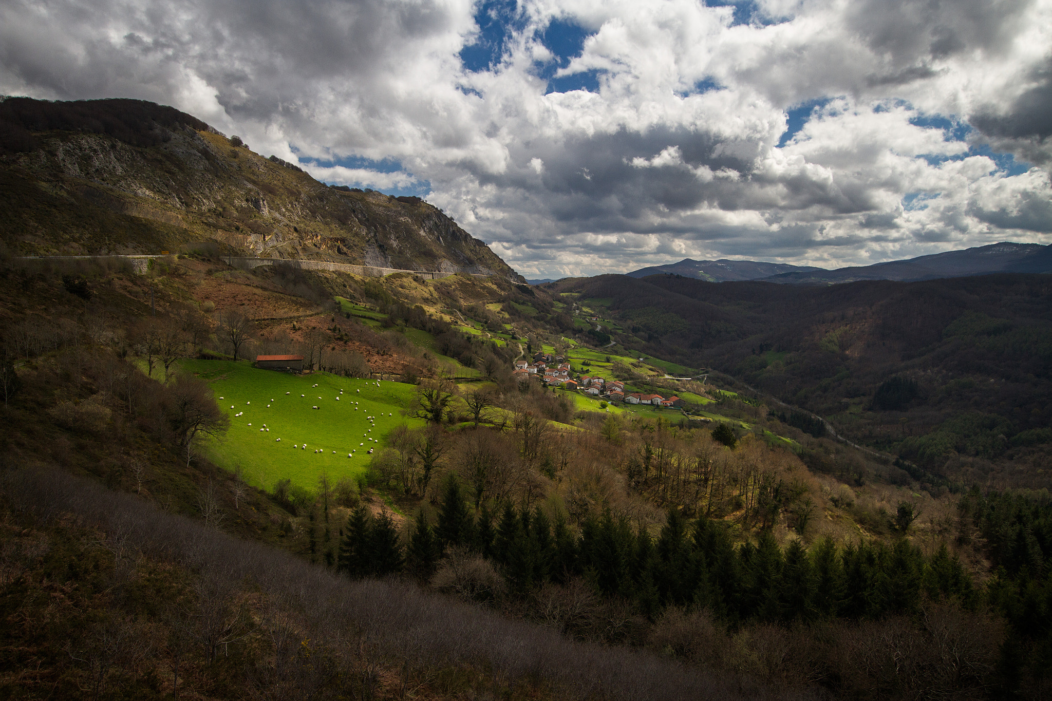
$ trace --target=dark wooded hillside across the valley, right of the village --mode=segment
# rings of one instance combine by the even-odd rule
[[[928,482],[1048,484],[1048,275],[823,288],[607,275],[546,287],[602,304],[625,348],[737,377],[916,462]],[[892,397],[896,383],[908,389]]]

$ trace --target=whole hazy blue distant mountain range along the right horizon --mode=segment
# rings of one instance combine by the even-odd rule
[[[1052,246],[1004,242],[906,261],[825,270],[756,261],[692,261],[652,266],[626,273],[631,277],[671,273],[713,283],[763,280],[793,285],[831,285],[859,280],[915,282],[994,272],[1052,272]]]

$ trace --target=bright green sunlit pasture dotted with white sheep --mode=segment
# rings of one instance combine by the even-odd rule
[[[267,490],[283,478],[313,490],[323,472],[333,481],[360,475],[371,458],[367,451],[382,448],[394,427],[424,424],[402,414],[412,399],[411,385],[327,373],[298,376],[231,360],[182,366],[209,383],[230,416],[226,436],[204,444],[207,457],[227,470],[241,465],[246,481]],[[367,416],[376,418],[370,422]],[[264,425],[269,431],[260,431]]]

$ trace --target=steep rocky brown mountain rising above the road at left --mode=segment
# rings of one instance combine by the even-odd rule
[[[420,198],[326,186],[171,107],[0,102],[0,235],[22,255],[224,253],[499,274],[483,242]]]

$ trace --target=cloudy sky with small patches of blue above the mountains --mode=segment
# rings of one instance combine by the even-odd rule
[[[4,0],[0,94],[173,105],[531,279],[1052,243],[1052,0]]]

